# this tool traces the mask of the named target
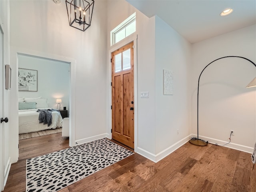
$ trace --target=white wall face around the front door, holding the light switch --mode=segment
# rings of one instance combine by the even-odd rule
[[[155,154],[155,72],[154,72],[154,45],[155,45],[155,18],[148,18],[125,0],[108,1],[108,27],[107,27],[107,49],[110,50],[110,31],[123,22],[126,18],[136,12],[136,34],[137,44],[137,91],[138,96],[138,149]],[[136,43],[136,42],[135,42]],[[136,53],[135,53],[136,54]],[[107,84],[110,84],[110,65],[108,66]],[[108,97],[111,97],[111,87],[108,90]],[[149,98],[140,98],[140,92],[148,91]],[[111,105],[109,102],[108,107]],[[136,105],[136,104],[135,104]],[[107,110],[107,113],[111,113]],[[109,117],[110,114],[107,114]],[[135,117],[136,118],[136,117]],[[111,119],[108,118],[108,121]],[[108,122],[110,124],[110,122]],[[135,149],[137,150],[137,149]],[[146,154],[143,154],[146,155]]]

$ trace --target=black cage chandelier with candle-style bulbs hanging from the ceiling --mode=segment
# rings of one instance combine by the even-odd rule
[[[94,0],[66,0],[69,25],[81,31],[91,26]]]

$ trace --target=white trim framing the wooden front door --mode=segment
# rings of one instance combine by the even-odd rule
[[[131,34],[130,36],[124,38],[120,42],[112,45],[109,48],[108,51],[108,80],[107,84],[109,87],[108,89],[108,101],[107,101],[107,135],[109,139],[112,139],[112,110],[111,110],[111,105],[112,105],[112,86],[111,81],[112,81],[112,73],[111,73],[111,68],[112,68],[112,63],[111,63],[111,53],[117,50],[118,48],[121,48],[130,42],[134,42],[134,152],[137,152],[138,148],[138,88],[137,88],[137,39],[138,35],[137,34]]]

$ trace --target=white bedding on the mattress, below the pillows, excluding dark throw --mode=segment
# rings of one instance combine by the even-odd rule
[[[19,110],[19,134],[37,132],[62,127],[62,117],[58,111],[52,112],[52,124],[39,123],[37,109]]]

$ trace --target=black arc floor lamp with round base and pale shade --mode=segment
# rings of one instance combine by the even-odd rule
[[[236,57],[236,58],[242,58],[242,59],[245,59],[245,60],[248,60],[249,62],[251,62],[255,67],[256,67],[256,64],[254,62],[252,62],[251,60],[247,59],[247,58],[244,58],[244,57],[240,57],[240,56],[225,56],[225,57],[221,57],[221,58],[218,58],[212,62],[210,62],[208,65],[206,65],[206,67],[202,70],[199,78],[198,78],[198,86],[197,86],[197,138],[191,138],[189,140],[190,143],[194,144],[194,145],[198,145],[198,146],[206,146],[208,144],[208,141],[205,141],[205,140],[202,140],[202,139],[199,139],[198,137],[198,95],[199,95],[199,82],[200,82],[200,77],[203,73],[203,71],[210,65],[212,64],[213,62],[217,61],[217,60],[220,60],[220,59],[223,59],[223,58],[228,58],[228,57]],[[256,77],[246,86],[246,88],[249,88],[249,87],[256,87]]]

